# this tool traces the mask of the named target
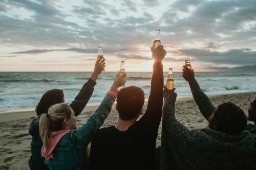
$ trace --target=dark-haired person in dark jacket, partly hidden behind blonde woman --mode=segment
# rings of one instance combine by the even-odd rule
[[[75,100],[70,104],[70,107],[74,110],[75,116],[78,116],[81,113],[90,100],[94,86],[96,85],[97,77],[105,66],[104,61],[105,59],[103,58],[99,58],[96,61],[94,71],[90,79],[84,83]],[[31,170],[49,169],[45,164],[45,158],[41,156],[42,140],[39,135],[39,117],[42,113],[47,113],[50,106],[63,102],[65,102],[63,91],[60,89],[52,89],[42,95],[42,98],[36,106],[37,118],[32,120],[29,127],[29,134],[32,136],[30,143],[31,156],[29,159],[29,167]]]

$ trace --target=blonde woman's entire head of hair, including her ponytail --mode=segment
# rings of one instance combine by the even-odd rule
[[[51,132],[62,130],[63,119],[70,118],[70,115],[70,106],[65,103],[52,105],[48,109],[48,113],[41,114],[39,120],[39,134],[46,148],[45,154],[48,154],[49,151]]]

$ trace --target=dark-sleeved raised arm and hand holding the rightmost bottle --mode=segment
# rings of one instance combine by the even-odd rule
[[[211,103],[208,96],[201,90],[197,80],[195,79],[194,70],[190,70],[186,66],[183,66],[183,78],[188,81],[193,98],[199,107],[200,112],[203,116],[209,120],[212,112],[216,109],[216,107]]]

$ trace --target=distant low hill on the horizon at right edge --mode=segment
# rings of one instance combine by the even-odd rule
[[[215,70],[215,71],[255,71],[256,72],[256,65],[244,65],[240,67],[206,67],[205,69]]]

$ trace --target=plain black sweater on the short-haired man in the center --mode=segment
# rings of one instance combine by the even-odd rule
[[[126,131],[115,126],[98,130],[92,140],[89,169],[154,169],[163,104],[163,67],[153,66],[145,114]]]

